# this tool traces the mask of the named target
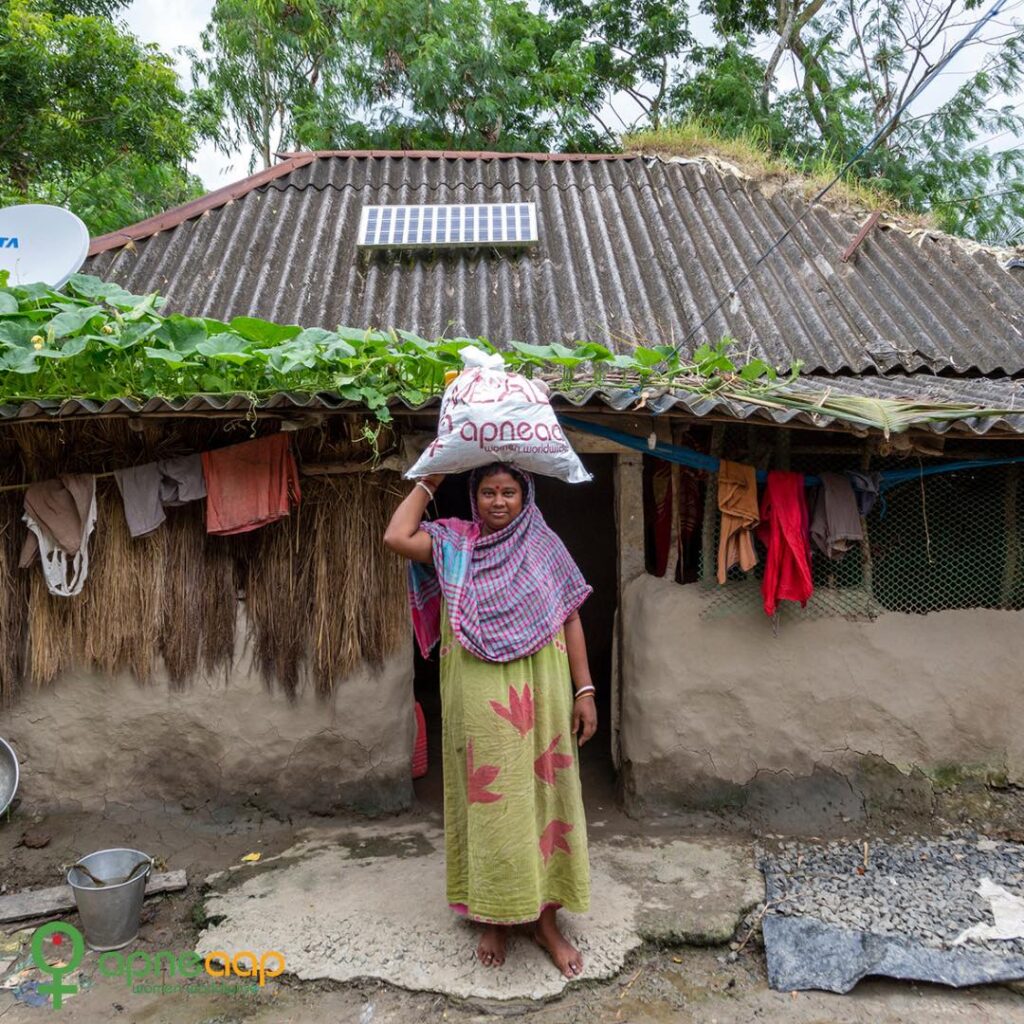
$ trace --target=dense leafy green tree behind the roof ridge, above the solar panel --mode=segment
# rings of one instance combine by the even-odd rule
[[[350,144],[530,150],[603,147],[590,111],[592,54],[565,24],[521,0],[357,4],[350,94],[362,114]]]

